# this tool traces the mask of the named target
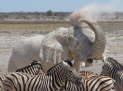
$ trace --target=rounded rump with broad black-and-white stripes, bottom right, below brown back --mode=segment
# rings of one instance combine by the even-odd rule
[[[85,84],[88,91],[111,91],[115,88],[114,80],[108,76],[97,76],[87,79]]]

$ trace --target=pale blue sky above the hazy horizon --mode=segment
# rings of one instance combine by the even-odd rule
[[[123,11],[123,0],[0,0],[0,12],[74,11],[90,6]]]

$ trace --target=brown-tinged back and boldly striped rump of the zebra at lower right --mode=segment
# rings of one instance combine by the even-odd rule
[[[94,72],[82,71],[81,77],[84,79],[83,83],[85,91],[110,91],[114,89],[114,80],[108,76],[101,76]]]

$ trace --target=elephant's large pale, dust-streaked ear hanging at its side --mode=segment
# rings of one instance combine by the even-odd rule
[[[57,35],[53,37],[46,36],[41,43],[40,58],[42,61],[54,65],[63,59],[68,59],[69,44],[72,38]],[[48,67],[49,68],[49,67]]]

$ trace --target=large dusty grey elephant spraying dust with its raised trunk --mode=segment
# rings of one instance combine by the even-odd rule
[[[62,59],[75,61],[75,68],[80,64],[88,66],[93,60],[103,59],[105,34],[89,20],[81,19],[79,13],[70,15],[69,28],[60,28],[46,35],[34,36],[19,41],[13,48],[9,59],[8,71],[22,68],[33,60],[40,60],[44,71],[59,63]],[[88,25],[95,34],[92,41],[83,33],[82,24]]]

